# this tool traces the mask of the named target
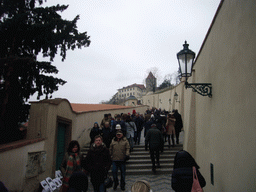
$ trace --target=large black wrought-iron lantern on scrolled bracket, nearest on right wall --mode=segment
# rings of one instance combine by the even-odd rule
[[[192,88],[194,92],[199,93],[202,96],[212,97],[212,84],[211,83],[188,83],[187,79],[192,75],[192,68],[195,59],[195,53],[188,49],[189,44],[185,41],[183,44],[183,50],[177,53],[179,62],[179,70],[181,76],[185,77],[185,87]]]

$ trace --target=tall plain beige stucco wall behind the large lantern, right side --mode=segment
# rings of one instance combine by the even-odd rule
[[[255,10],[253,0],[223,1],[194,66],[195,81],[213,86],[211,99],[196,95],[196,159],[207,191],[256,191]]]

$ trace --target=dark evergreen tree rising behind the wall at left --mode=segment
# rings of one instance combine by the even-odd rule
[[[51,97],[66,83],[49,75],[57,74],[57,68],[37,61],[37,55],[53,61],[60,50],[64,61],[67,50],[90,45],[87,33],[77,30],[79,16],[71,21],[61,18],[67,5],[36,7],[37,3],[43,0],[0,0],[0,143],[19,139],[18,123],[28,117],[25,102],[31,95]]]

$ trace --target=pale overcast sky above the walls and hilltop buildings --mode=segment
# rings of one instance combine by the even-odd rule
[[[61,13],[86,31],[91,45],[68,51],[52,63],[66,80],[53,98],[71,103],[100,103],[117,89],[143,84],[151,68],[158,86],[178,70],[176,54],[187,40],[198,53],[220,0],[47,0],[44,6],[69,5]],[[40,60],[41,58],[38,57]],[[40,99],[44,99],[41,97]],[[33,96],[30,101],[35,101]]]

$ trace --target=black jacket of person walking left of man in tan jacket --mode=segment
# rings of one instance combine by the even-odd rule
[[[82,163],[82,167],[90,173],[91,182],[98,185],[103,183],[111,162],[110,153],[106,146],[103,144],[100,147],[96,147],[93,144]]]

